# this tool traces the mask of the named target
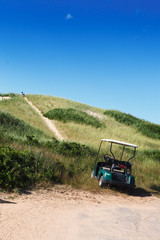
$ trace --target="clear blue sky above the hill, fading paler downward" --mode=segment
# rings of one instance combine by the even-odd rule
[[[0,0],[0,93],[160,124],[160,0]]]

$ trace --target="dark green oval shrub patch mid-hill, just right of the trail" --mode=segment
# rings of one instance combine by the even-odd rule
[[[44,114],[49,119],[55,119],[62,122],[76,122],[99,128],[103,124],[95,117],[74,108],[55,108]]]

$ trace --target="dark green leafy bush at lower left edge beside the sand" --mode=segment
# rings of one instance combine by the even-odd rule
[[[0,147],[0,187],[26,188],[35,182],[35,158],[29,152]]]

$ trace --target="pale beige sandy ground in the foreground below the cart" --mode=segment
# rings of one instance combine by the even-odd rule
[[[159,240],[160,199],[65,188],[0,194],[0,240]]]

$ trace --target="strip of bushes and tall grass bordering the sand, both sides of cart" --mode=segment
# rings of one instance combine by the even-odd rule
[[[90,189],[98,186],[97,182],[90,179],[97,153],[95,150],[85,145],[52,139],[43,145],[41,143],[34,151],[36,139],[27,138],[27,141],[31,141],[32,152],[0,147],[0,188],[24,189],[46,183]],[[152,186],[158,189],[160,182],[160,151],[138,151],[133,163],[137,187],[159,193]]]

